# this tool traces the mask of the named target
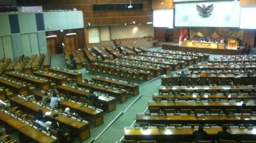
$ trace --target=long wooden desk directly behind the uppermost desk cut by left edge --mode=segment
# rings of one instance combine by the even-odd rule
[[[15,78],[17,80],[25,81],[27,83],[31,83],[32,85],[36,85],[36,87],[41,87],[42,89],[45,90],[50,90],[51,85],[49,81],[41,80],[41,79],[36,79],[34,77],[30,77],[27,75],[22,75],[21,73],[14,73],[14,72],[8,72],[5,73],[6,76]]]

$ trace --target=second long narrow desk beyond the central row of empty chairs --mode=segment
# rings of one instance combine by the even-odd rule
[[[154,71],[154,75],[156,77],[160,76],[161,75],[161,70],[160,68],[155,68],[155,67],[144,67],[144,66],[139,66],[139,65],[131,65],[131,64],[126,64],[126,63],[122,63],[122,62],[114,62],[113,60],[112,61],[109,61],[109,60],[105,60],[103,61],[102,63],[107,63],[107,64],[114,64],[114,65],[125,65],[125,66],[130,66],[130,67],[137,67],[137,68],[146,68],[146,69],[149,69],[150,71]]]

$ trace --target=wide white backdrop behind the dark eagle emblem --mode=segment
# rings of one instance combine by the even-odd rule
[[[213,4],[209,17],[199,15],[197,5],[208,7]],[[176,27],[240,27],[241,7],[239,3],[226,2],[191,2],[176,3]]]

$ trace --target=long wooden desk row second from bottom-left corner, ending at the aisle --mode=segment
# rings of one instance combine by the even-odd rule
[[[43,114],[49,112],[51,110],[47,108],[43,108],[42,106],[37,105],[37,103],[25,101],[18,96],[9,98],[10,104],[12,106],[18,106],[19,108],[24,111],[24,113],[31,113],[33,112],[36,115],[36,112],[41,109]],[[60,125],[67,126],[70,130],[70,135],[75,136],[78,135],[80,142],[90,138],[90,125],[84,121],[76,121],[73,118],[68,118],[65,115],[58,115],[58,118],[54,118],[53,115],[56,114],[55,111],[51,111],[51,115],[47,115],[48,120],[59,122]]]

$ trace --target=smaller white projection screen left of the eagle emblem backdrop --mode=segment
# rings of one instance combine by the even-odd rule
[[[171,27],[173,28],[173,9],[154,10],[153,11],[154,27]]]

